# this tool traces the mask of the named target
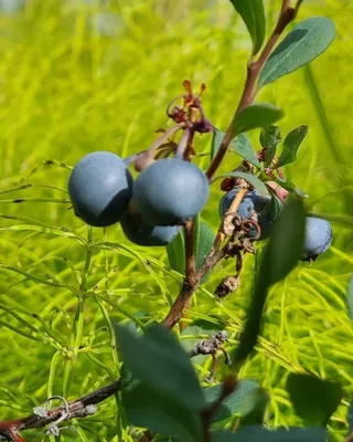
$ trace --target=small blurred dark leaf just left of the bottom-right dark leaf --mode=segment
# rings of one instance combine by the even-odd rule
[[[261,425],[268,401],[269,396],[263,388],[249,391],[243,399],[239,425]]]

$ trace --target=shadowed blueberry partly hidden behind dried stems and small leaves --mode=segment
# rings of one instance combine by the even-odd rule
[[[220,201],[220,217],[223,218],[225,212],[229,209],[234,197],[238,192],[238,189],[233,189],[229,192],[225,193],[225,196]],[[272,220],[270,219],[270,197],[263,197],[256,190],[252,190],[246,193],[245,198],[239,204],[237,213],[245,218],[246,220],[252,219],[254,213],[257,213],[258,223],[261,228],[260,240],[264,240],[269,234],[269,225]],[[249,236],[256,236],[256,229],[250,229]]]

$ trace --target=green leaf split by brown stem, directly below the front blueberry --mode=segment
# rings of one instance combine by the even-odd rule
[[[212,228],[200,217],[194,219],[194,253],[196,271],[200,270],[205,256],[207,256],[214,243],[215,235]],[[181,230],[176,236],[167,245],[170,266],[182,275],[185,274],[185,235]],[[202,282],[206,280],[206,275]]]

